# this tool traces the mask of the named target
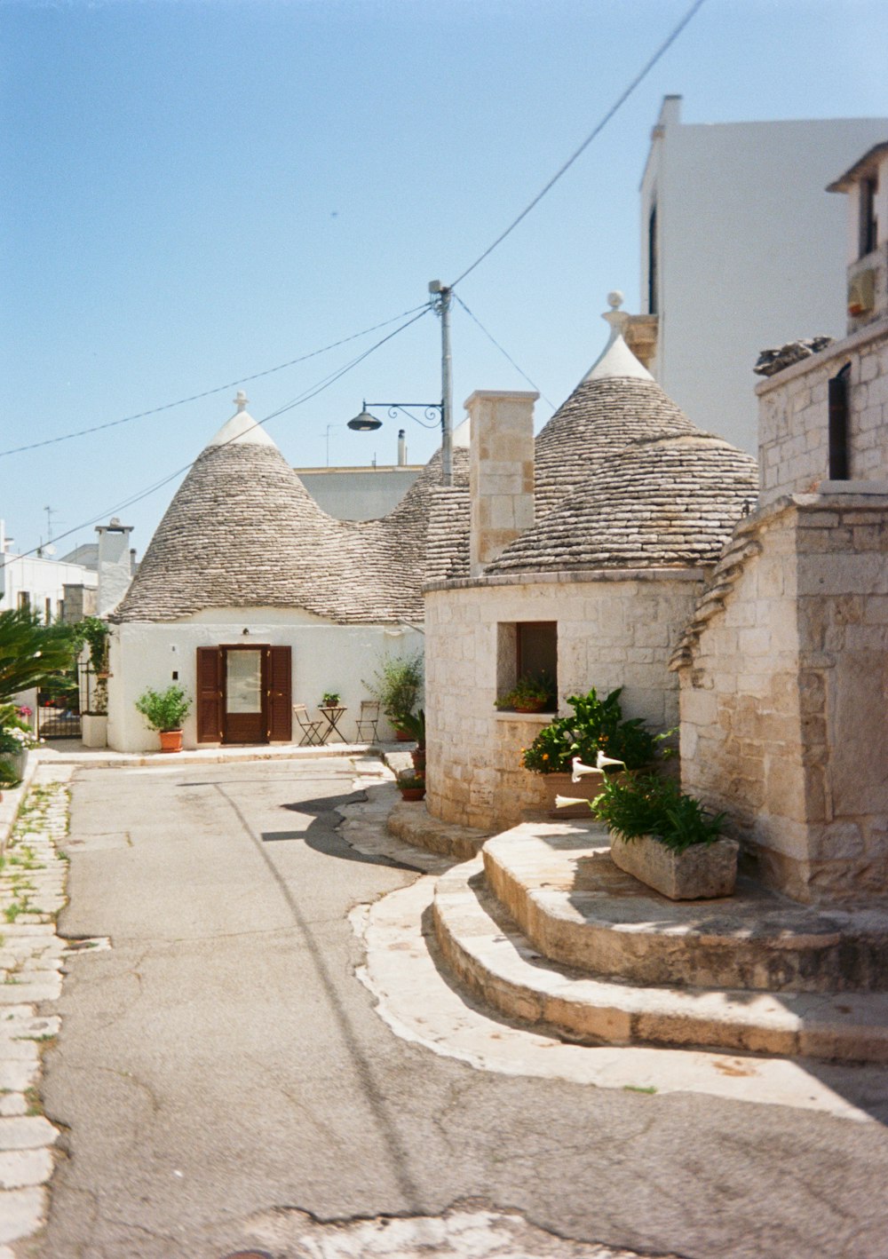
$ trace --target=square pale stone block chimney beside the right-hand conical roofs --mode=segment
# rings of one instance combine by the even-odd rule
[[[472,577],[534,522],[533,404],[538,393],[477,390],[471,419],[469,492]]]

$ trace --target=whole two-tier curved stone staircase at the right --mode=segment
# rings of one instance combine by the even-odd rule
[[[744,879],[670,901],[611,862],[600,825],[533,821],[438,878],[433,922],[476,997],[567,1040],[888,1061],[888,910]]]

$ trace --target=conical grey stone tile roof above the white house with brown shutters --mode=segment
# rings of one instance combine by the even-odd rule
[[[462,488],[451,494],[467,501],[467,451],[453,452],[453,468]],[[304,608],[341,624],[422,619],[440,478],[438,453],[387,517],[335,520],[271,439],[214,439],[173,499],[115,619],[175,621],[231,607]]]

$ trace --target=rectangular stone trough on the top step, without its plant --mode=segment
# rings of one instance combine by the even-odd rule
[[[684,852],[673,852],[647,835],[630,842],[611,836],[611,861],[670,900],[732,895],[738,852],[736,840],[694,844]]]

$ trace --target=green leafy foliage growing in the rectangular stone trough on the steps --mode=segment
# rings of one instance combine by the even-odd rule
[[[592,812],[620,838],[631,842],[650,835],[674,852],[695,844],[714,844],[724,813],[710,813],[676,782],[656,774],[606,778],[592,801]]]

